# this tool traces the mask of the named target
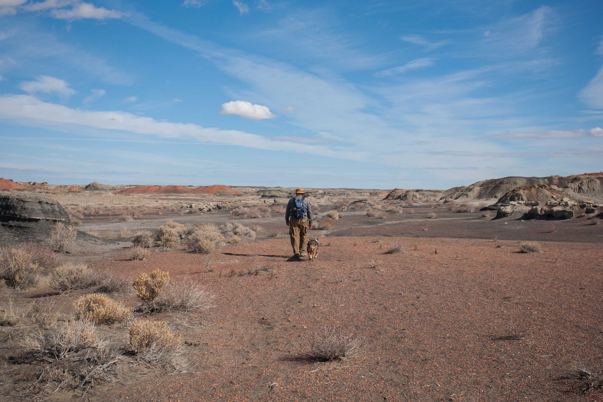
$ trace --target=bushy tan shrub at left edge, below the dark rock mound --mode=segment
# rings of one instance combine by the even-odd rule
[[[40,280],[40,265],[21,247],[0,249],[0,279],[8,287],[25,290]]]

